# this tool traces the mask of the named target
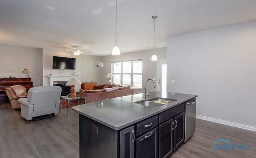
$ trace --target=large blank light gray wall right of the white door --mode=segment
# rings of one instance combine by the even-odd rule
[[[167,91],[198,95],[196,114],[256,126],[256,21],[167,39]]]

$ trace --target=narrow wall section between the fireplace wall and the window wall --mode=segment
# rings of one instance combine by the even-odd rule
[[[84,54],[81,57],[81,81],[94,81],[101,84],[101,69],[95,66],[101,57]]]

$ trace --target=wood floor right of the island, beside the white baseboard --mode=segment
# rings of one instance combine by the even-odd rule
[[[212,143],[219,139],[228,139],[236,148],[214,151]],[[237,149],[237,144],[250,144],[251,149]],[[256,158],[256,132],[196,119],[196,132],[170,158]]]

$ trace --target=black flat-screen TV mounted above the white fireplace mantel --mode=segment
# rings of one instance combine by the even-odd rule
[[[52,69],[76,69],[76,58],[53,56]]]

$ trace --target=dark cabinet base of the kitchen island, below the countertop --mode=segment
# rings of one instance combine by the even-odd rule
[[[120,130],[80,114],[79,157],[169,158],[184,142],[184,111],[178,105]]]

